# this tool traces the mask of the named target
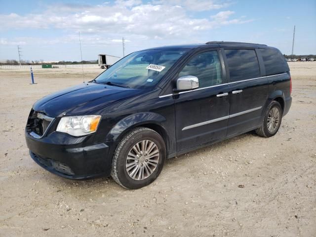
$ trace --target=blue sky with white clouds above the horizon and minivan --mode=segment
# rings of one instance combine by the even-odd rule
[[[0,0],[0,60],[80,61],[162,45],[242,41],[316,54],[316,0]]]

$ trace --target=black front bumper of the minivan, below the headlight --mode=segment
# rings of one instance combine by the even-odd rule
[[[37,139],[25,132],[25,137],[31,157],[54,174],[70,179],[87,179],[111,173],[109,146],[94,144],[91,141],[93,136],[72,137],[52,132]]]

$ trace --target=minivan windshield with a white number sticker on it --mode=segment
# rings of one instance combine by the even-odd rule
[[[100,74],[94,82],[144,89],[155,86],[187,49],[134,52]]]

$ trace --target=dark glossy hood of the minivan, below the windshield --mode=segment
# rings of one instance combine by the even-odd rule
[[[82,83],[41,98],[33,109],[52,118],[99,114],[106,105],[139,93],[137,89]]]

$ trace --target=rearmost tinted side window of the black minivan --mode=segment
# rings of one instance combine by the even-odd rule
[[[266,68],[266,76],[288,71],[284,56],[276,49],[260,48],[260,53]]]

